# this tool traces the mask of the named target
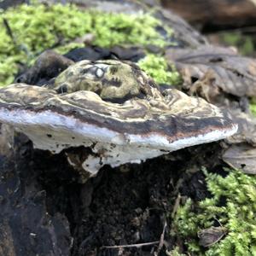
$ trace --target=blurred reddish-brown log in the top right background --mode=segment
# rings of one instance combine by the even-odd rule
[[[256,24],[255,0],[161,0],[191,24],[203,29],[234,28]]]

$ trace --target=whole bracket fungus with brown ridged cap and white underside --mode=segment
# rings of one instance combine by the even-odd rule
[[[237,130],[228,113],[179,90],[161,91],[124,61],[79,61],[42,87],[11,84],[0,90],[0,121],[25,133],[34,148],[56,154],[84,146],[80,164],[89,176]],[[77,166],[72,154],[67,159]]]

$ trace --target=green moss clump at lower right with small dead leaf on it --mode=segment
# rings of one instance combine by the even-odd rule
[[[191,199],[179,207],[174,230],[182,236],[193,255],[256,255],[256,177],[229,170],[227,177],[207,173],[207,188],[212,198],[199,203]],[[221,201],[225,198],[226,203]],[[227,235],[211,247],[199,246],[197,232],[221,224]],[[176,234],[177,235],[177,234]]]

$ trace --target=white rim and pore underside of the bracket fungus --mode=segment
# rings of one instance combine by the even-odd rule
[[[83,168],[91,176],[96,175],[104,165],[115,167],[125,163],[140,163],[180,148],[218,141],[237,131],[237,125],[233,125],[230,129],[169,141],[167,137],[154,133],[147,136],[121,134],[51,111],[34,113],[0,109],[0,121],[14,125],[16,130],[25,133],[32,140],[34,148],[59,153],[64,148],[90,147],[96,155],[89,155]]]

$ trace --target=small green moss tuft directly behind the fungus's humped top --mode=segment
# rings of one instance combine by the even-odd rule
[[[180,74],[174,66],[167,64],[163,56],[149,54],[137,64],[159,84],[181,84]]]

